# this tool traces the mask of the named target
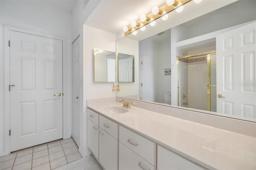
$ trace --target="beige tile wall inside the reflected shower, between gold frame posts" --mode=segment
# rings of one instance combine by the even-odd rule
[[[189,107],[207,110],[207,61],[194,61],[188,63]]]

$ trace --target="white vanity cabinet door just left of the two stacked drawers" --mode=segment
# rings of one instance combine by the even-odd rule
[[[118,160],[118,140],[100,128],[99,160],[106,170],[116,170]]]

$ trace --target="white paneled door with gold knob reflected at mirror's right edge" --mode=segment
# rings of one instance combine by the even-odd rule
[[[216,37],[217,112],[256,118],[256,22]]]

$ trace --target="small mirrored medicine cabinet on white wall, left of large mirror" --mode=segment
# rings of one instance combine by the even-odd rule
[[[116,53],[94,49],[94,82],[115,82]]]

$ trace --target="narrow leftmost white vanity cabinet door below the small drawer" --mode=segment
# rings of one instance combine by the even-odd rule
[[[92,150],[92,153],[99,157],[98,155],[98,141],[99,141],[99,134],[98,134],[98,125],[87,119],[87,145]]]

